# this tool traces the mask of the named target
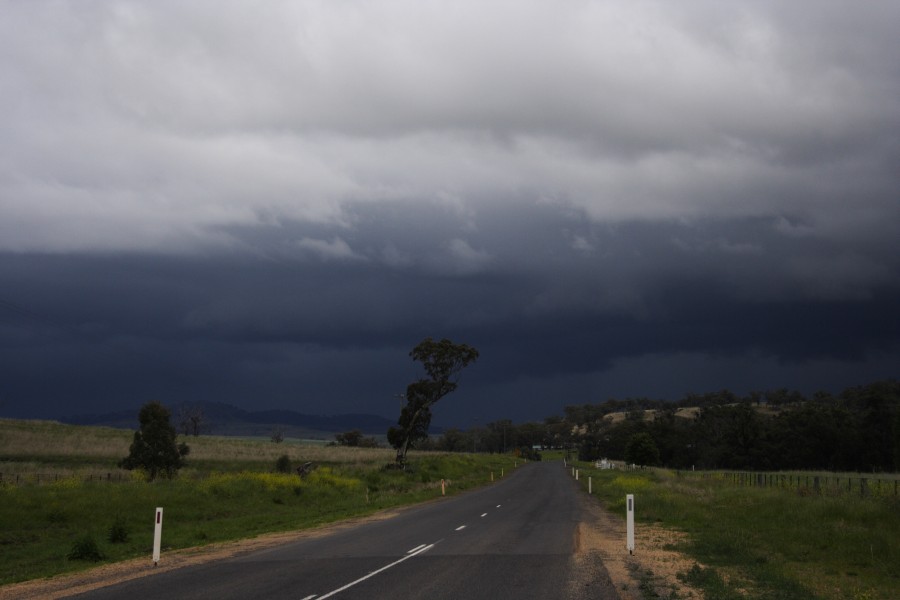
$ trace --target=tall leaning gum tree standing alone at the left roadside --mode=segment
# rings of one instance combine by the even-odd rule
[[[406,453],[418,441],[428,437],[431,407],[457,388],[460,372],[478,359],[478,350],[448,339],[439,342],[425,338],[409,353],[422,363],[427,377],[406,387],[406,406],[400,411],[396,427],[388,430],[388,441],[397,449],[396,465],[406,467]]]

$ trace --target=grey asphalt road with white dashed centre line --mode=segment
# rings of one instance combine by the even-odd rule
[[[562,463],[530,463],[391,519],[75,597],[547,600],[589,589],[616,598],[611,584],[573,585],[585,578],[574,559],[584,502],[575,486]]]

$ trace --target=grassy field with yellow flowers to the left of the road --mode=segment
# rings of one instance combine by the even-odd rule
[[[454,494],[509,472],[512,457],[411,453],[409,472],[384,470],[389,449],[187,438],[173,480],[121,471],[128,431],[0,420],[0,585],[146,556],[155,508],[163,550],[253,537]],[[301,480],[278,458],[317,468]],[[18,483],[16,483],[18,481]]]

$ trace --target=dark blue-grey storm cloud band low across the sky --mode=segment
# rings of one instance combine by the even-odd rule
[[[787,274],[780,283],[785,260],[834,262],[837,250],[785,235],[779,222],[597,228],[540,205],[499,217],[457,215],[455,230],[447,211],[396,205],[356,214],[353,231],[232,231],[252,257],[5,255],[3,279],[22,309],[4,319],[4,364],[16,373],[6,396],[390,414],[393,394],[417,376],[406,352],[436,332],[482,351],[467,375],[475,389],[591,376],[648,354],[862,361],[900,336],[896,288],[875,281],[819,297]],[[466,231],[479,253],[471,268],[468,255],[452,264],[450,242]],[[312,234],[343,239],[349,252],[298,249]],[[516,402],[495,399],[494,410]]]

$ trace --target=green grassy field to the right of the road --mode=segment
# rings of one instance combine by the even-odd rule
[[[707,598],[900,598],[900,497],[741,487],[721,477],[662,469],[600,471],[573,463],[579,481],[625,517],[683,531],[684,573]],[[856,474],[854,474],[856,475]],[[699,566],[702,565],[702,566]]]

